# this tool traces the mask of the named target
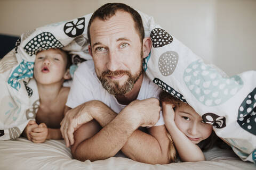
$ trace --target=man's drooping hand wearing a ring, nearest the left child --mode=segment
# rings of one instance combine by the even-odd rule
[[[65,114],[65,117],[60,123],[60,131],[67,147],[74,144],[73,133],[84,123],[93,120],[93,117],[89,112],[90,107],[93,106],[90,106],[90,102],[87,102],[73,109],[70,109]]]

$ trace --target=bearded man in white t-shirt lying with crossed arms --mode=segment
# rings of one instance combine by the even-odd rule
[[[93,13],[87,31],[93,62],[75,72],[61,122],[73,157],[100,160],[121,150],[139,162],[170,163],[159,101],[150,98],[161,90],[142,72],[151,40],[144,38],[139,13],[125,4],[105,4]]]

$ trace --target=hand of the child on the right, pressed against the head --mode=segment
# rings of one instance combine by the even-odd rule
[[[174,123],[175,112],[173,108],[174,108],[174,105],[168,102],[162,101],[162,111],[164,116],[164,122]]]

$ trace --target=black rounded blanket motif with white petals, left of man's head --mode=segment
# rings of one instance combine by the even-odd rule
[[[76,37],[82,35],[85,27],[85,18],[78,18],[74,21],[69,21],[64,25],[64,32],[68,37]]]

